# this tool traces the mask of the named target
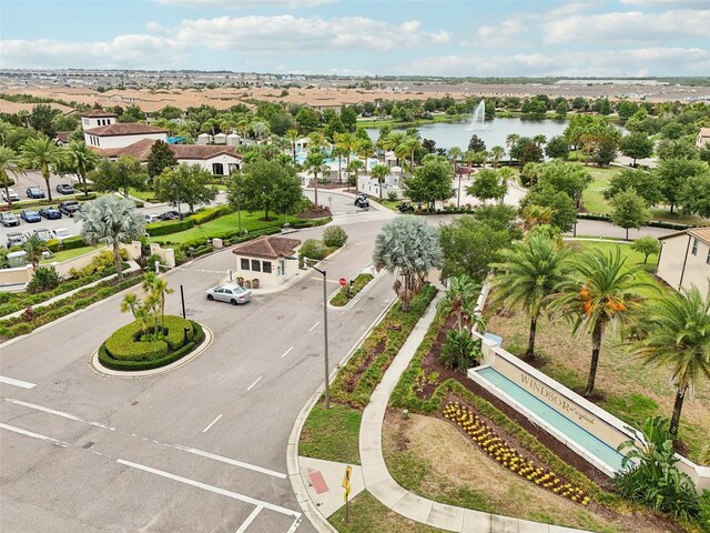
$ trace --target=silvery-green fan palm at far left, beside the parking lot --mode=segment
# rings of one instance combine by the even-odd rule
[[[89,244],[102,242],[113,248],[115,271],[119,280],[122,280],[121,243],[145,234],[145,221],[135,204],[124,198],[104,194],[85,202],[77,217],[83,222],[81,237],[84,241]]]

